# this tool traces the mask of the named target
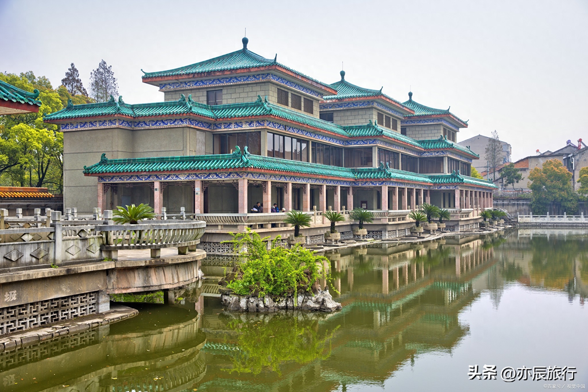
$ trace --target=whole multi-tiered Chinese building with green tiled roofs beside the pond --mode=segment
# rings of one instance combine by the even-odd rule
[[[455,142],[467,122],[449,109],[412,93],[401,103],[343,71],[323,83],[242,41],[226,55],[145,72],[164,102],[111,97],[46,116],[64,132],[65,206],[143,202],[209,215],[245,214],[256,202],[263,212],[273,203],[305,211],[492,206],[495,185],[469,176],[479,156]],[[384,223],[397,220],[406,223]]]

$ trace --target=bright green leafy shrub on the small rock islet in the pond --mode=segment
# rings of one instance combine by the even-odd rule
[[[312,285],[320,277],[330,280],[323,269],[323,262],[328,259],[315,256],[313,251],[299,244],[292,249],[278,246],[278,236],[268,250],[265,241],[269,237],[261,238],[250,229],[246,233],[229,234],[233,239],[225,242],[239,250],[239,263],[227,287],[239,296],[290,296],[298,290],[311,292]]]

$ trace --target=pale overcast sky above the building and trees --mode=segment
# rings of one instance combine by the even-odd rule
[[[0,71],[58,86],[74,62],[86,88],[101,59],[125,102],[163,100],[141,82],[248,48],[326,83],[340,79],[496,129],[513,160],[588,143],[588,2],[579,1],[6,1]]]

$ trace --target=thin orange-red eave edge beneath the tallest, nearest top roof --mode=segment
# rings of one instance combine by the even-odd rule
[[[306,78],[305,76],[300,75],[299,73],[290,71],[289,69],[281,66],[279,63],[271,64],[271,65],[263,65],[263,66],[255,66],[249,68],[235,68],[235,69],[223,69],[220,71],[209,71],[209,72],[193,72],[193,73],[184,73],[180,75],[167,75],[167,76],[145,76],[143,77],[143,83],[148,83],[153,86],[159,86],[160,82],[180,82],[186,80],[196,80],[202,78],[209,78],[211,76],[226,76],[226,75],[234,75],[235,73],[251,73],[251,72],[259,72],[259,71],[278,71],[285,75],[290,76],[291,78],[298,79],[298,81],[305,83],[306,85],[312,86],[315,89],[319,89],[320,92],[323,92],[323,95],[333,95],[336,94],[337,91],[333,88],[330,88],[326,85],[321,83],[315,82],[312,79]],[[326,83],[325,83],[326,84]]]

